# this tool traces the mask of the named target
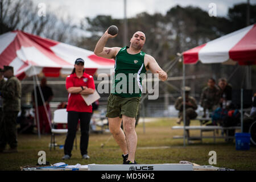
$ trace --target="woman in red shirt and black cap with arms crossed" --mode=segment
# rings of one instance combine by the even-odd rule
[[[89,159],[87,154],[89,141],[89,123],[92,117],[92,105],[87,105],[81,95],[92,94],[95,90],[93,77],[84,72],[84,60],[76,59],[75,68],[66,79],[68,90],[68,134],[64,145],[62,159],[70,159],[73,142],[76,137],[77,124],[80,120],[81,139],[80,150],[83,159]]]

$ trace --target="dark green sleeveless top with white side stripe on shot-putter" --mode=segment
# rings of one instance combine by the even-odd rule
[[[141,97],[142,79],[145,76],[144,56],[141,51],[135,55],[127,52],[128,46],[123,47],[115,57],[112,94],[121,97]]]

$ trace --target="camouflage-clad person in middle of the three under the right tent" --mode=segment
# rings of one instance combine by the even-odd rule
[[[216,86],[216,81],[214,78],[209,78],[207,85],[201,94],[200,105],[204,108],[204,115],[208,109],[209,111],[214,111],[219,107],[220,104],[220,89]]]

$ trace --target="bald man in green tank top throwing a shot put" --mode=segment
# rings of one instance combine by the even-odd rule
[[[154,57],[147,55],[142,51],[146,36],[143,32],[135,32],[130,39],[130,47],[105,47],[106,42],[110,38],[117,36],[108,33],[108,30],[98,40],[94,53],[97,56],[105,57],[107,59],[115,59],[115,75],[114,75],[114,91],[110,93],[108,98],[108,106],[106,117],[109,119],[109,129],[115,141],[123,152],[123,164],[136,164],[135,151],[137,147],[137,134],[135,131],[135,117],[138,112],[142,93],[142,79],[138,76],[150,70],[152,73],[158,73],[159,79],[167,80],[167,73],[164,72],[154,59]],[[118,92],[116,87],[123,81],[118,75],[127,76],[127,92]],[[129,79],[129,74],[137,74],[137,79]],[[135,80],[135,83],[134,81]],[[139,92],[135,91],[135,84],[139,86]],[[126,86],[126,85],[122,85]],[[133,88],[130,89],[129,88]],[[122,90],[125,90],[122,88]],[[123,121],[123,130],[121,129],[121,122]]]

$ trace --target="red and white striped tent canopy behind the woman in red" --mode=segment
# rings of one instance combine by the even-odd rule
[[[0,35],[0,68],[13,66],[14,75],[20,80],[41,72],[49,77],[68,75],[79,57],[85,60],[85,72],[90,75],[95,72],[110,74],[110,69],[114,68],[114,60],[98,57],[86,49],[23,31]]]

